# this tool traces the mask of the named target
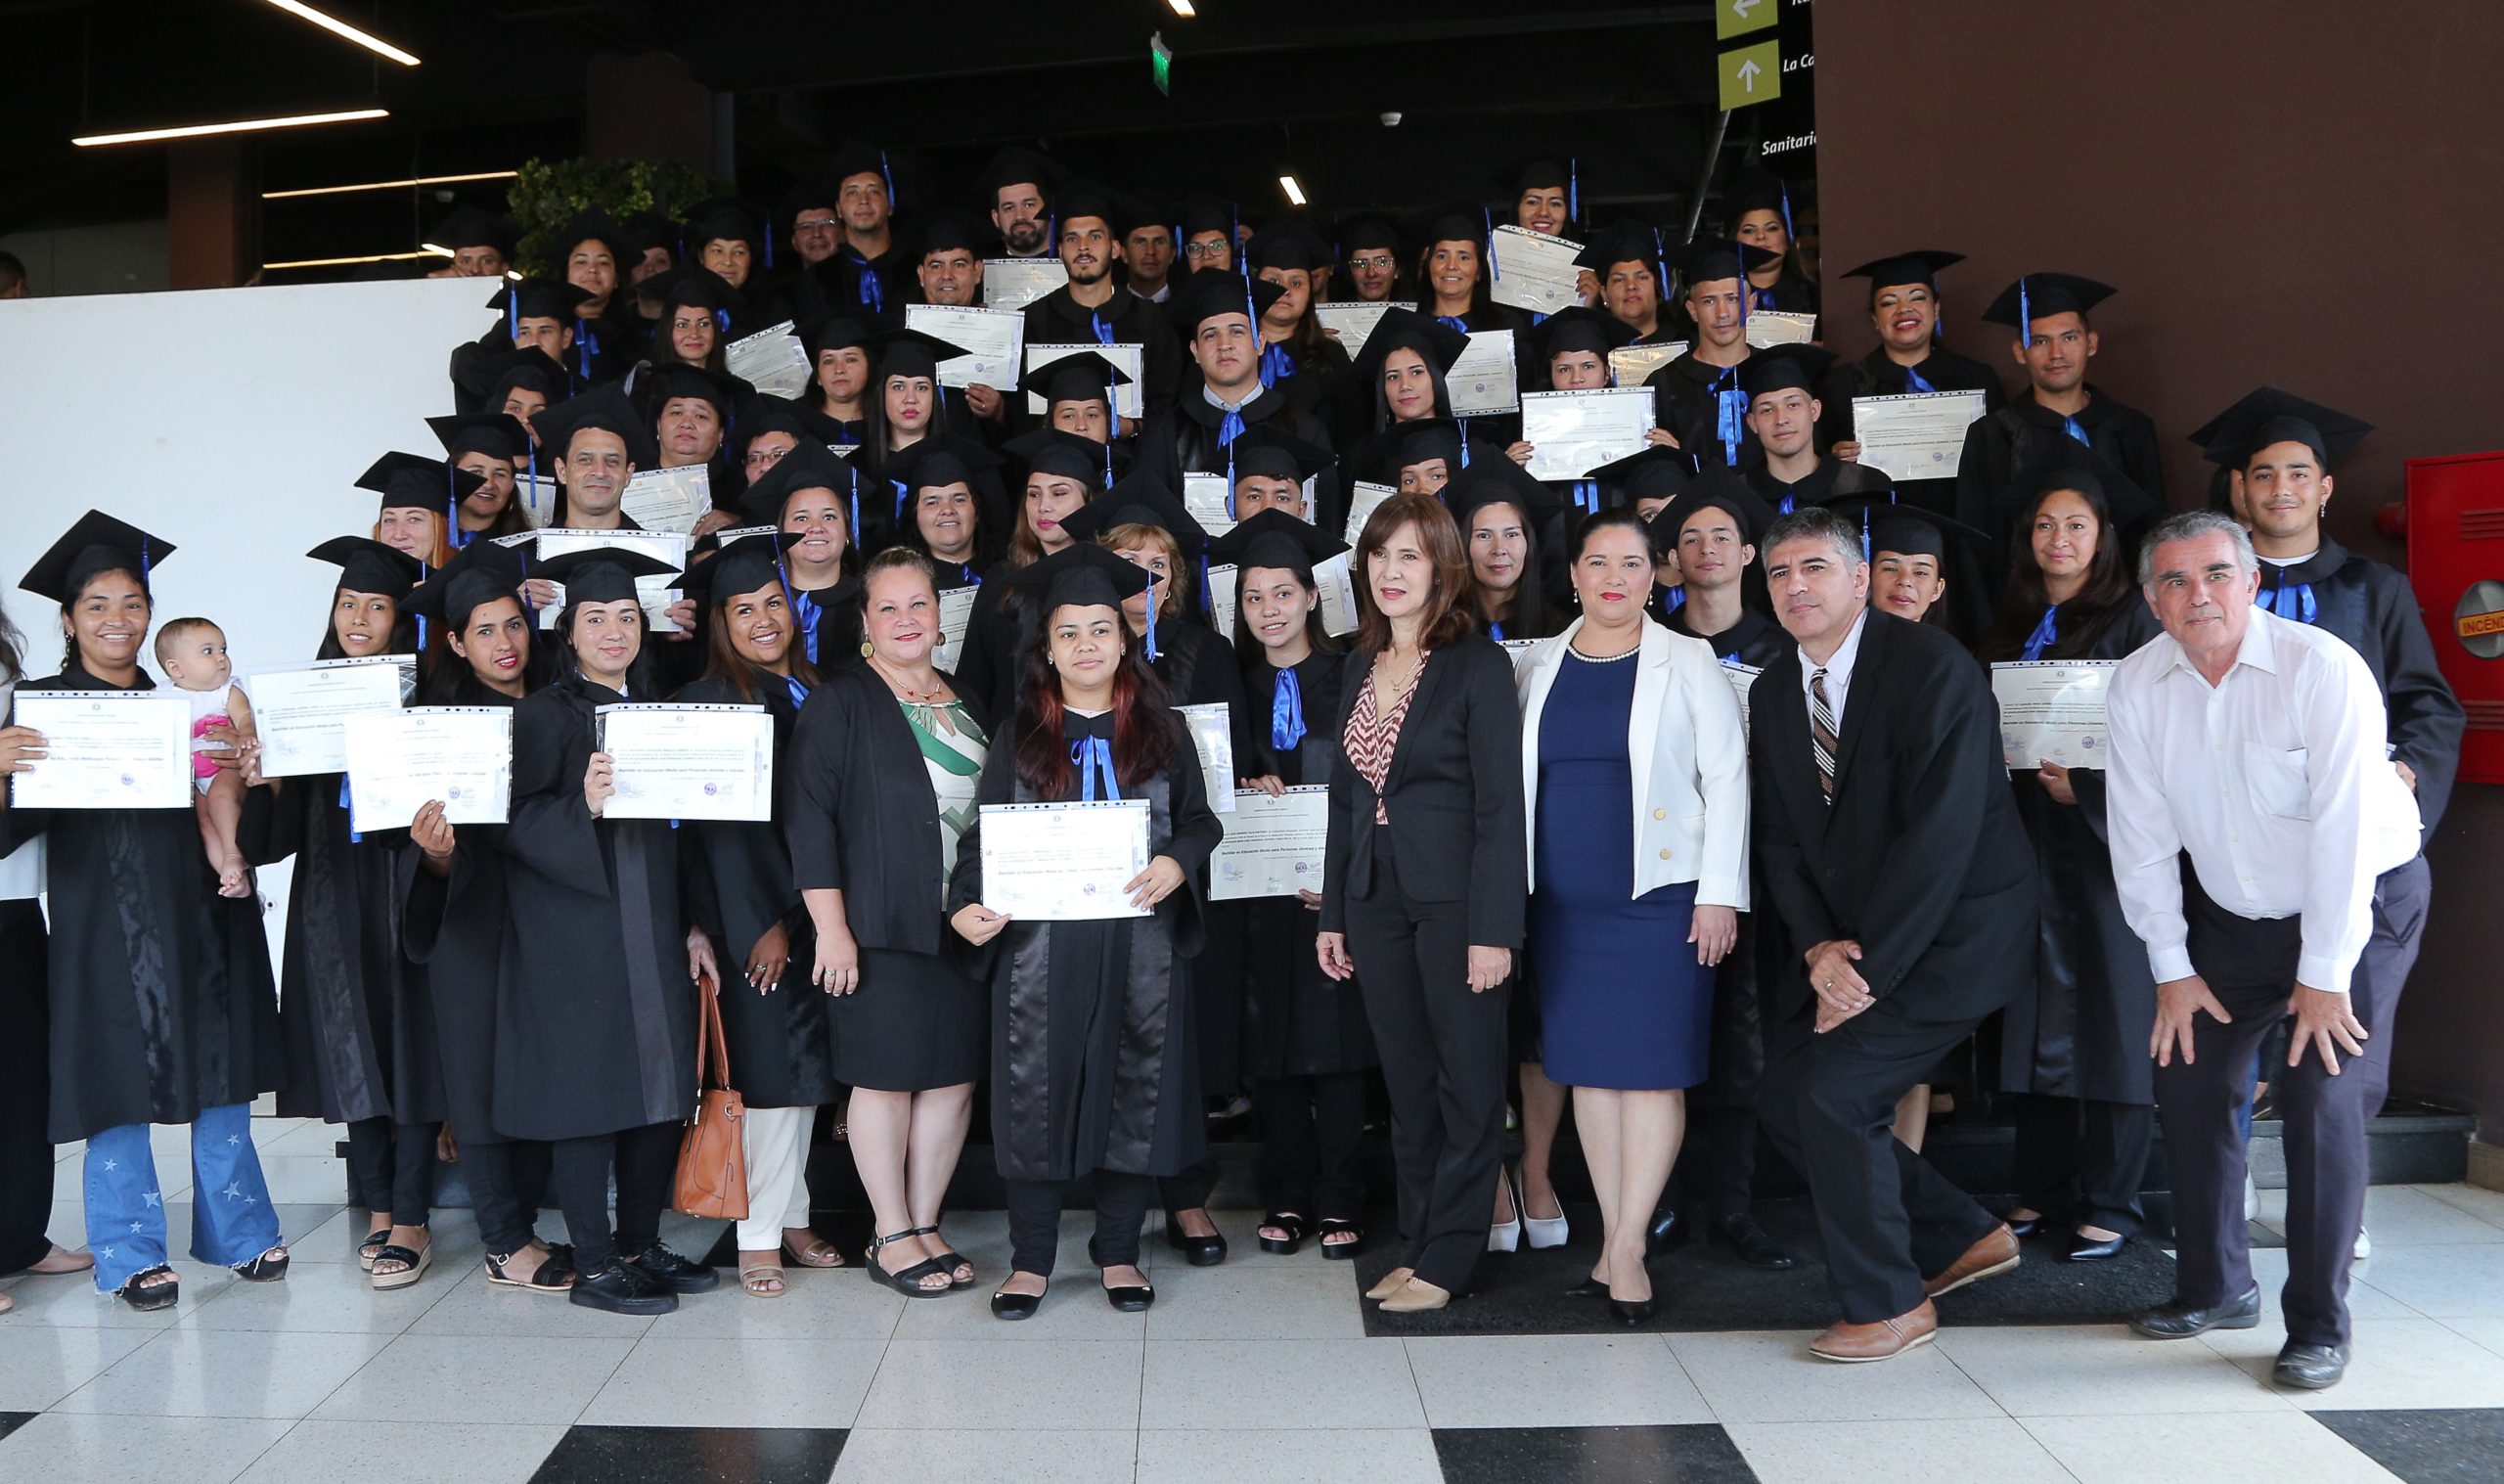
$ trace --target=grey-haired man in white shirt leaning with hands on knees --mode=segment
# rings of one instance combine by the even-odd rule
[[[2256,1046],[2291,1019],[2289,1064],[2269,1071],[2289,1186],[2274,1379],[2319,1391],[2346,1374],[2366,1124],[2426,921],[2416,798],[2386,761],[2356,651],[2254,608],[2241,526],[2163,521],[2138,581],[2166,633],[2113,673],[2108,821],[2121,911],[2156,971],[2148,1049],[2178,1261],[2173,1299],[2131,1326],[2186,1339],[2259,1324],[2234,1116]]]

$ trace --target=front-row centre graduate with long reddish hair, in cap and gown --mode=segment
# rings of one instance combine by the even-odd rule
[[[1009,1194],[1014,1269],[992,1294],[1027,1319],[1052,1281],[1062,1186],[1094,1176],[1104,1299],[1154,1304],[1139,1271],[1139,1221],[1154,1176],[1194,1164],[1199,1109],[1192,956],[1194,881],[1222,838],[1199,758],[1139,656],[1122,598],[1147,571],[1077,543],[1009,578],[1039,616],[1024,648],[1017,711],[984,763],[982,803],[1144,801],[1149,866],[1124,891],[1149,916],[1012,921],[984,906],[977,821],[957,851],[952,918],[987,948],[992,981],[992,1144]]]

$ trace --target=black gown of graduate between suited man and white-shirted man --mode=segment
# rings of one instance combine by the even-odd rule
[[[2053,646],[2041,658],[2118,661],[2161,633],[2136,593],[2121,608],[2093,643]],[[2063,613],[2063,621],[2083,623],[2086,616]],[[2121,916],[2103,768],[2068,771],[2076,806],[2046,793],[2033,768],[2011,771],[2008,786],[2033,843],[2041,913],[2033,978],[2001,1019],[2001,1091],[2153,1104],[2156,978],[2148,946]]]

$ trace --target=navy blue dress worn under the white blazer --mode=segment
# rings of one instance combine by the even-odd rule
[[[1713,1046],[1713,971],[1688,928],[1695,883],[1635,891],[1635,778],[1625,756],[1635,658],[1557,666],[1540,713],[1537,891],[1530,961],[1547,1076],[1568,1086],[1688,1089]]]

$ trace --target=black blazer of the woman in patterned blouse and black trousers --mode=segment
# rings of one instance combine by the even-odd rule
[[[1415,901],[1465,901],[1470,943],[1522,946],[1530,836],[1522,816],[1522,711],[1512,656],[1472,633],[1437,648],[1400,721],[1400,746],[1377,796],[1347,761],[1347,713],[1372,683],[1375,656],[1347,656],[1332,718],[1330,853],[1322,931],[1347,931],[1347,898],[1375,891],[1375,801],[1390,816],[1400,888]]]

